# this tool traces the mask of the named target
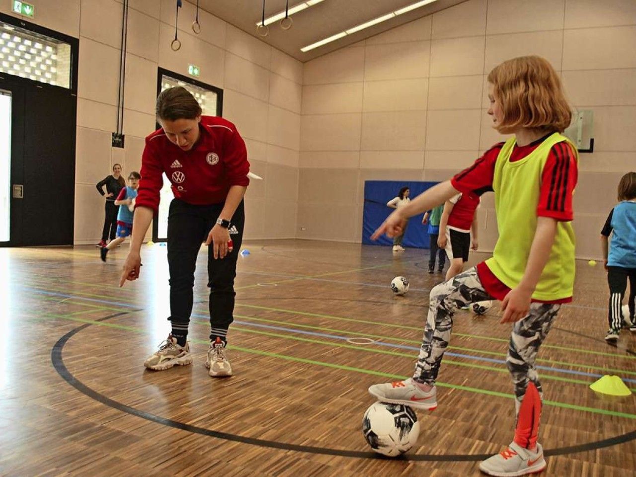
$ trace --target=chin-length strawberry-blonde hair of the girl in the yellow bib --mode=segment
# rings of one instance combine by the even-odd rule
[[[504,61],[488,74],[488,82],[501,103],[497,130],[502,134],[520,127],[563,132],[570,125],[572,111],[548,60],[528,56]]]

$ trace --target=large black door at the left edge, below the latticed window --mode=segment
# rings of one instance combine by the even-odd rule
[[[72,245],[77,99],[6,78],[0,88],[12,99],[11,229],[2,244]]]

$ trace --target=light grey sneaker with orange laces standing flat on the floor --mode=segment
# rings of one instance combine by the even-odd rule
[[[515,442],[511,443],[506,450],[488,457],[479,464],[480,471],[495,477],[536,474],[545,468],[546,460],[543,458],[541,444],[537,444],[537,452],[530,452]]]

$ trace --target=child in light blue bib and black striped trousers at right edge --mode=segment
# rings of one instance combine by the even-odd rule
[[[619,202],[607,217],[601,231],[603,258],[609,284],[609,331],[605,335],[607,342],[616,342],[625,323],[621,303],[625,296],[627,279],[630,280],[630,331],[636,333],[634,319],[634,300],[636,298],[636,172],[628,172],[618,184]],[[612,240],[608,239],[610,233]]]

